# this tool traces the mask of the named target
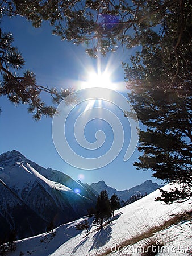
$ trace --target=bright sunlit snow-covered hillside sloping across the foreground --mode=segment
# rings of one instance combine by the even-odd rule
[[[169,189],[166,185],[164,189]],[[64,256],[95,256],[95,255],[141,255],[141,247],[145,237],[152,236],[156,243],[163,242],[162,253],[157,255],[190,255],[192,250],[191,222],[180,221],[170,227],[158,229],[162,223],[177,214],[191,210],[191,201],[166,205],[154,199],[160,196],[157,190],[115,212],[115,218],[106,222],[103,229],[93,226],[93,218],[89,218],[89,235],[86,230],[76,230],[75,226],[83,219],[64,224],[52,233],[44,233],[36,237],[16,242],[16,251],[9,256],[18,255],[64,255]],[[153,232],[149,232],[153,230]],[[139,238],[141,241],[139,241]],[[132,244],[129,245],[130,241]],[[121,246],[121,248],[120,248]],[[116,249],[116,251],[115,251]],[[119,249],[119,251],[118,251]],[[111,252],[112,250],[112,252]],[[166,250],[166,251],[165,251]],[[145,254],[148,255],[148,254]]]

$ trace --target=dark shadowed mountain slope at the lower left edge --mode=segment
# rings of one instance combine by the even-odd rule
[[[28,237],[45,230],[48,222],[28,207],[2,180],[0,180],[0,191],[1,238],[5,238],[10,230],[14,229],[18,237]]]

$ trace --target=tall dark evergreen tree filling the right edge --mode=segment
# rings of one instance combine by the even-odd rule
[[[124,65],[131,103],[147,126],[140,132],[142,155],[135,166],[182,185],[158,197],[165,203],[192,196],[190,7],[188,1],[169,7],[162,34],[154,31],[156,40],[144,43],[132,64]]]

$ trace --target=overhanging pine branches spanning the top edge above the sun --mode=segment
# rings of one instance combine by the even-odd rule
[[[131,48],[157,43],[158,35],[166,32],[168,20],[170,30],[174,19],[180,22],[179,30],[183,30],[182,23],[186,18],[183,11],[186,9],[190,10],[190,1],[6,0],[1,5],[2,16],[24,16],[34,27],[40,27],[43,20],[48,20],[53,34],[76,44],[86,43],[91,56],[97,56],[98,50],[103,55],[113,52],[120,45]],[[173,39],[179,31],[174,32]]]

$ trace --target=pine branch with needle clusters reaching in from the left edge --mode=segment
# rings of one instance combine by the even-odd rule
[[[32,71],[25,71],[23,76],[16,72],[24,66],[24,59],[19,50],[12,45],[14,37],[11,33],[3,33],[0,29],[0,96],[7,96],[15,105],[27,104],[28,112],[37,121],[42,115],[53,117],[56,107],[47,106],[40,98],[43,92],[51,94],[53,103],[59,103],[72,93],[72,89],[48,88],[37,85],[36,76]]]

